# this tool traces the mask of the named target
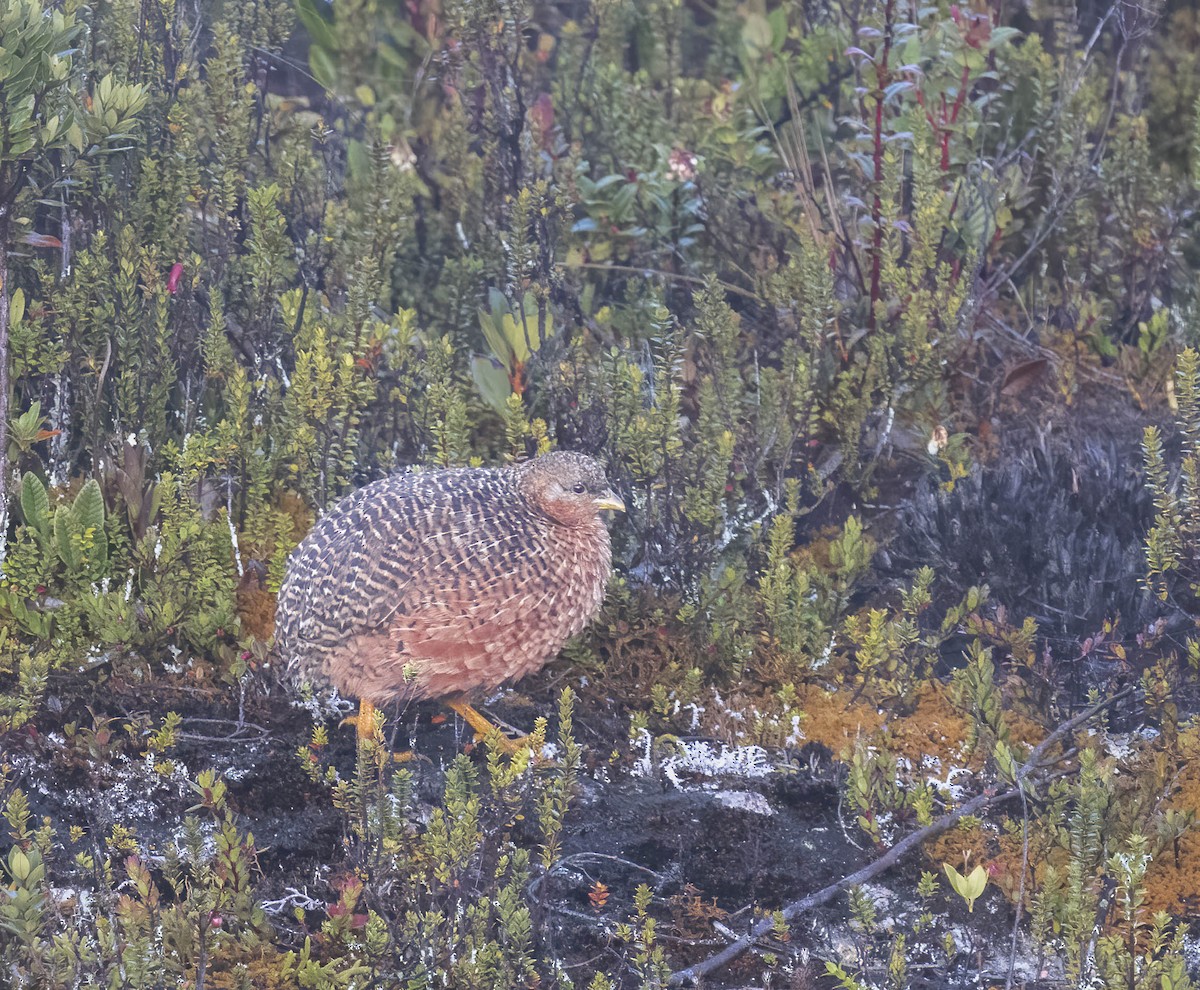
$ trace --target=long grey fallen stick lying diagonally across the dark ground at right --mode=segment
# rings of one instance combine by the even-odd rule
[[[814,908],[820,907],[821,905],[826,904],[826,901],[833,900],[842,890],[846,890],[847,888],[854,887],[859,883],[865,883],[872,877],[878,876],[886,870],[889,870],[900,859],[902,859],[914,848],[920,846],[923,842],[925,842],[929,839],[934,839],[941,835],[947,829],[952,828],[960,818],[964,818],[967,815],[977,815],[980,811],[985,811],[986,809],[991,808],[992,805],[1003,804],[1004,802],[1012,800],[1013,798],[1018,797],[1021,793],[1022,790],[1021,785],[1025,782],[1026,778],[1028,778],[1031,774],[1036,773],[1038,769],[1042,768],[1042,761],[1046,754],[1046,750],[1049,750],[1063,736],[1074,732],[1079,726],[1092,719],[1099,712],[1103,712],[1105,708],[1109,708],[1110,706],[1116,704],[1118,701],[1123,701],[1124,698],[1129,697],[1133,694],[1133,690],[1134,689],[1132,686],[1124,688],[1123,690],[1115,694],[1112,697],[1105,698],[1102,702],[1097,702],[1091,708],[1080,712],[1078,715],[1075,715],[1072,719],[1068,719],[1057,728],[1055,728],[1054,732],[1046,736],[1045,739],[1043,739],[1040,743],[1037,744],[1037,746],[1033,748],[1033,752],[1030,754],[1030,758],[1026,760],[1020,767],[1018,767],[1016,786],[1013,787],[1012,790],[996,794],[989,794],[986,792],[984,792],[983,794],[978,794],[977,797],[973,797],[971,800],[968,800],[966,804],[956,808],[954,811],[948,811],[947,814],[942,815],[942,817],[938,818],[936,822],[931,822],[924,828],[917,829],[911,835],[906,835],[904,839],[896,842],[890,850],[883,853],[883,856],[881,856],[874,863],[863,866],[863,869],[860,870],[856,870],[850,876],[842,877],[836,883],[830,883],[828,887],[817,890],[815,894],[809,894],[805,898],[800,898],[799,900],[792,901],[791,904],[786,905],[782,912],[780,912],[784,916],[784,920],[785,922],[794,920],[800,914],[804,914],[808,911],[812,911]],[[761,938],[763,935],[767,935],[774,928],[775,928],[775,916],[762,918],[761,920],[755,923],[755,925],[750,929],[750,931],[748,931],[736,942],[731,942],[719,953],[714,953],[713,955],[708,956],[708,959],[703,959],[700,962],[696,962],[695,965],[689,966],[685,970],[678,970],[677,972],[673,972],[671,974],[671,978],[668,979],[668,985],[683,986],[688,984],[695,984],[696,980],[698,980],[701,977],[708,976],[708,973],[712,973],[714,970],[720,970],[722,966],[727,966],[739,955],[745,953],[746,949],[749,949],[758,938]]]

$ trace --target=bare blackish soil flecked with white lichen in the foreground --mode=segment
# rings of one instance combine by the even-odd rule
[[[313,721],[286,695],[248,691],[239,724],[239,696],[232,689],[197,690],[162,678],[148,689],[104,671],[55,686],[48,707],[58,714],[41,720],[46,731],[35,724],[5,739],[5,760],[17,770],[16,782],[37,818],[48,816],[60,833],[80,826],[97,847],[114,826],[133,827],[152,863],[179,840],[184,816],[197,804],[187,778],[211,768],[228,786],[239,826],[254,835],[263,871],[259,899],[296,892],[317,901],[335,899],[329,881],[347,864],[346,822],[328,790],[313,785],[301,768],[296,751],[308,743]],[[134,751],[125,726],[157,725],[168,710],[180,713],[184,722],[170,754],[180,770],[164,779]],[[491,709],[520,724],[533,710],[528,698],[515,694]],[[410,766],[419,797],[428,803],[440,800],[443,768],[469,746],[461,724],[440,718],[433,724],[439,715],[436,706],[420,706],[392,713],[389,721],[401,737],[396,748],[412,737],[420,754]],[[602,725],[608,738],[620,737],[608,713],[584,706],[578,718],[593,728]],[[68,722],[79,728],[65,738],[60,727]],[[331,761],[349,776],[353,731],[332,724],[329,731]],[[481,748],[473,758],[482,760]],[[560,863],[530,888],[542,952],[569,966],[593,960],[596,968],[620,968],[616,929],[632,913],[638,884],[654,890],[661,941],[672,965],[682,967],[722,948],[763,912],[877,856],[860,847],[853,821],[841,820],[836,769],[821,754],[803,754],[790,772],[752,779],[691,773],[672,781],[659,772],[641,772],[635,760],[606,763],[590,750],[586,766],[590,769],[581,774]],[[906,877],[906,889],[911,880]],[[596,881],[610,892],[602,906],[588,898]],[[56,876],[55,882],[70,884],[72,878]],[[876,895],[882,904],[892,898],[886,888]],[[845,898],[835,900],[798,925],[788,946],[775,948],[836,955],[846,914]],[[997,922],[1007,914],[1001,908]],[[287,938],[283,931],[281,936]],[[743,986],[757,971],[756,956],[749,954],[708,985]]]

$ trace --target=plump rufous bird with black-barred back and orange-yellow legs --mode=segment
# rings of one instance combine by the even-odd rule
[[[570,451],[352,492],[288,559],[275,632],[289,679],[356,697],[360,740],[377,706],[425,700],[487,736],[470,696],[541,670],[592,620],[612,574],[602,514],[624,509]]]

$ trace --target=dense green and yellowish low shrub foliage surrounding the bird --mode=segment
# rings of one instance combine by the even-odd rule
[[[758,742],[792,745],[804,685],[912,712],[967,647],[952,694],[970,749],[1016,745],[1001,688],[1044,718],[1062,686],[1036,628],[983,617],[986,588],[935,594],[929,569],[862,608],[863,514],[913,478],[931,499],[965,485],[1031,368],[1066,404],[1102,376],[1138,403],[1166,389],[1183,455],[1147,434],[1145,587],[1194,599],[1195,355],[1177,386],[1168,367],[1195,307],[1200,94],[1165,68],[1195,66],[1186,5],[996,18],[895,0],[0,0],[0,736],[38,718],[50,677],[122,656],[150,676],[204,658],[245,691],[287,554],[332,500],[404,466],[568,446],[600,454],[630,509],[575,659],[610,664],[635,739],[673,737],[680,706],[721,691],[757,706]],[[1126,594],[1127,624],[1148,598]],[[1163,712],[1178,677],[1145,674]],[[571,754],[569,702],[562,721]],[[896,791],[889,758],[853,757],[875,841],[882,805],[928,817],[932,800]],[[558,857],[563,766],[460,761],[420,827],[403,772],[314,772],[366,865],[322,950],[269,964],[254,841],[215,778],[186,864],[151,877],[119,841],[80,853],[104,910],[78,935],[54,929],[54,840],[8,787],[0,962],[34,984],[119,985],[120,952],[134,983],[134,960],[182,978],[224,953],[239,985],[254,966],[269,985],[570,985],[526,902]],[[1073,978],[1183,986],[1182,935],[1136,895],[1160,809],[1102,840],[1100,811],[1080,816],[1104,774],[1084,762],[1078,794],[1051,794],[1046,834],[1078,835],[1018,896],[1046,946],[1070,932]],[[524,810],[544,854],[502,827]],[[1097,871],[1128,937],[1093,958],[1070,925],[1094,917]],[[360,906],[380,877],[419,907]],[[650,901],[623,923],[618,980],[664,979]]]

